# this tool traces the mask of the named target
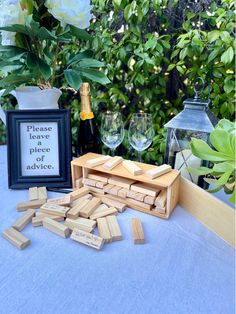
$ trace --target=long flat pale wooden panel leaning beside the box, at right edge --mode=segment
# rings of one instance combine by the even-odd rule
[[[235,210],[181,177],[179,204],[224,241],[235,247]]]

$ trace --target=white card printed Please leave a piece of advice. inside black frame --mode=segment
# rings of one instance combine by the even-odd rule
[[[21,122],[20,143],[23,176],[59,175],[57,122]]]

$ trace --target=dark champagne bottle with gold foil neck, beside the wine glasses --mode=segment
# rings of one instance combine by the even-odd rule
[[[83,83],[80,87],[81,111],[80,126],[77,136],[77,155],[88,152],[98,152],[98,132],[94,122],[94,114],[91,109],[90,86]]]

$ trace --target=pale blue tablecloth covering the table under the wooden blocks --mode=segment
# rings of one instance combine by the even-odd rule
[[[0,232],[21,213],[27,190],[7,188],[0,147]],[[56,196],[49,193],[49,196]],[[146,243],[134,245],[130,219],[142,220]],[[233,314],[234,250],[177,207],[168,221],[127,209],[123,240],[102,251],[28,225],[23,251],[0,237],[0,313]]]

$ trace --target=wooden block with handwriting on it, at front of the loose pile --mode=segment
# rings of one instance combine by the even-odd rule
[[[97,250],[100,250],[104,244],[103,238],[76,228],[73,229],[71,239]]]

